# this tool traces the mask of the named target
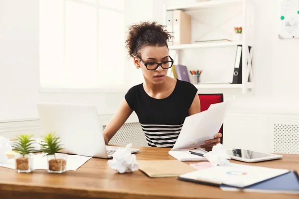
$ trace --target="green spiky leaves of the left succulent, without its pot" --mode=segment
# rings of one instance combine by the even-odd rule
[[[34,147],[32,146],[34,139],[31,139],[33,135],[17,135],[16,142],[12,145],[13,149],[22,154],[23,157],[26,154],[33,153]]]

